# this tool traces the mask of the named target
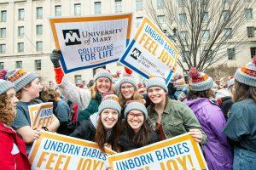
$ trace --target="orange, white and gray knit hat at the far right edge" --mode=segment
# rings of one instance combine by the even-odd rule
[[[235,79],[242,84],[256,87],[256,56],[252,62],[236,70]]]

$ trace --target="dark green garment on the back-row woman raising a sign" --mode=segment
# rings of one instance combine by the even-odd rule
[[[96,113],[99,109],[99,105],[102,103],[102,94],[96,93],[96,98],[90,99],[90,103],[84,111],[79,112],[79,122],[88,120],[90,115]]]

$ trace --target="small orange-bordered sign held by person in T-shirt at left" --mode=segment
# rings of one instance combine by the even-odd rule
[[[53,119],[53,103],[47,102],[28,106],[31,127],[47,127]]]

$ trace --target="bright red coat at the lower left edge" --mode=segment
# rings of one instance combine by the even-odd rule
[[[28,170],[31,165],[26,156],[26,145],[15,130],[0,122],[0,168]]]

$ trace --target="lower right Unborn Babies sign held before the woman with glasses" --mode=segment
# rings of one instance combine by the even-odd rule
[[[137,150],[108,156],[111,169],[207,169],[199,144],[188,133]]]

